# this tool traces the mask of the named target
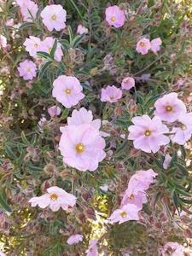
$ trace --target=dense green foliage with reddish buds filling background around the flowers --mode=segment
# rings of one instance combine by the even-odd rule
[[[15,1],[0,1],[1,32],[7,48],[0,48],[1,155],[0,155],[0,240],[7,255],[85,255],[92,238],[98,239],[99,255],[159,255],[167,241],[190,247],[191,237],[191,142],[171,143],[156,154],[133,148],[127,141],[131,118],[152,116],[154,102],[175,91],[192,111],[191,95],[191,1],[35,1],[36,20],[22,20]],[[50,3],[67,11],[67,27],[49,32],[40,18]],[[125,10],[121,28],[108,26],[105,9],[117,4]],[[14,24],[7,26],[7,20]],[[88,28],[78,35],[79,24]],[[25,81],[17,67],[32,60],[23,46],[29,36],[58,38],[63,51],[60,62],[52,55],[38,55],[38,78]],[[140,55],[137,42],[143,37],[161,38],[161,50]],[[77,77],[85,97],[73,108],[64,108],[51,95],[53,82],[61,74]],[[106,85],[120,86],[130,75],[136,86],[125,90],[117,103],[100,101]],[[57,105],[59,117],[50,118],[47,109]],[[79,172],[63,164],[58,150],[60,127],[74,108],[90,109],[94,119],[108,120],[102,131],[107,157],[96,172]],[[44,117],[39,129],[38,121]],[[125,134],[125,138],[120,137]],[[165,154],[172,162],[163,168]],[[130,177],[152,168],[157,182],[148,189],[141,221],[108,224],[108,216],[119,207]],[[32,208],[32,196],[43,195],[57,185],[78,198],[71,213]],[[108,189],[103,189],[108,185]],[[106,190],[106,191],[104,191]],[[182,213],[181,213],[182,212]],[[84,241],[67,244],[73,232]],[[190,251],[191,253],[191,251]],[[190,255],[189,253],[189,255]],[[167,254],[168,255],[168,254]]]

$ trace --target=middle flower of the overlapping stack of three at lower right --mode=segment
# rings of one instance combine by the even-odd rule
[[[133,204],[136,205],[139,209],[142,209],[143,204],[145,204],[147,201],[147,195],[144,192],[138,192],[137,195],[127,195],[125,191],[125,195],[121,201],[121,207],[127,204]]]

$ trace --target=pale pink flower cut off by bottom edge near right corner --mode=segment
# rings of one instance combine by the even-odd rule
[[[166,255],[183,256],[184,247],[178,244],[177,241],[168,241],[161,250],[161,256],[166,256]]]

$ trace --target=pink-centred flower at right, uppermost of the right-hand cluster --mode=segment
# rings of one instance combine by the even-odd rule
[[[154,114],[159,116],[161,120],[170,123],[176,121],[181,114],[186,113],[184,103],[177,98],[175,92],[158,99],[154,103],[154,107],[156,108]]]

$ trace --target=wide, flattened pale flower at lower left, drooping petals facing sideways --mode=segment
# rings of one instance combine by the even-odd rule
[[[60,208],[68,210],[76,204],[76,197],[67,193],[64,189],[58,187],[50,187],[46,194],[32,197],[30,203],[32,207],[40,207],[44,209],[49,207],[53,212],[57,212]]]

